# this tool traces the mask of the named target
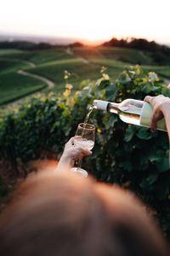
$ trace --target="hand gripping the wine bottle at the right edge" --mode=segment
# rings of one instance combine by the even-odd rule
[[[166,119],[166,125],[170,125],[168,113],[170,113],[170,98],[159,95],[159,96],[145,96],[144,102],[149,102],[153,108],[153,114],[150,121],[151,131],[156,131],[157,121],[163,117]],[[168,128],[167,128],[168,131]]]

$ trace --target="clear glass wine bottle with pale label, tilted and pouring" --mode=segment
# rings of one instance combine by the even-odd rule
[[[94,100],[93,108],[110,111],[119,115],[123,122],[150,127],[153,108],[149,102],[126,99],[121,103]],[[157,130],[167,131],[165,119],[157,122]]]

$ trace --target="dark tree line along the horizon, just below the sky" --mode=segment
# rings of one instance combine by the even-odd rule
[[[52,49],[61,47],[62,45],[52,45],[47,43],[35,44],[32,42],[25,41],[14,41],[0,42],[0,49],[26,49],[26,50],[37,50],[37,49]],[[75,44],[68,44],[65,47],[83,47],[82,43],[76,42]],[[129,39],[117,39],[112,38],[110,41],[100,44],[102,47],[122,47],[128,49],[139,49],[150,52],[154,61],[161,65],[170,65],[170,47],[166,45],[156,44],[155,41],[148,41],[144,38],[131,38]],[[99,47],[96,46],[96,47]],[[64,47],[64,46],[63,46]]]

